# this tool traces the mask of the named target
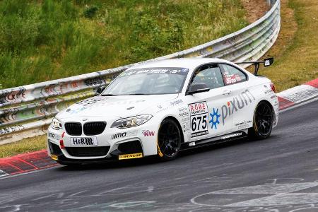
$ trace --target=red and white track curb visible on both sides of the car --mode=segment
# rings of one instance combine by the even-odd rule
[[[301,86],[284,90],[277,95],[279,110],[313,100],[318,97],[318,78]],[[42,170],[57,165],[59,164],[47,156],[46,150],[0,158],[0,177]]]

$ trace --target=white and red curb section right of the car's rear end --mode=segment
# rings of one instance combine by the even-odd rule
[[[307,102],[318,97],[318,78],[278,93],[279,110]]]

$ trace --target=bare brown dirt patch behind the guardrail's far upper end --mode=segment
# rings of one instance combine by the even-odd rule
[[[269,4],[265,0],[241,0],[247,11],[246,18],[249,23],[257,21],[269,11]]]

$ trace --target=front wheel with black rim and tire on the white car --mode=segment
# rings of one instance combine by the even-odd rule
[[[158,131],[158,156],[161,160],[177,158],[182,142],[179,125],[173,119],[164,119]]]

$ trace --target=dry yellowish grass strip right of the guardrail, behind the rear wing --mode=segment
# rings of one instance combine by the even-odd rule
[[[275,63],[259,73],[278,91],[318,78],[318,1],[281,0],[281,33],[266,54]]]

